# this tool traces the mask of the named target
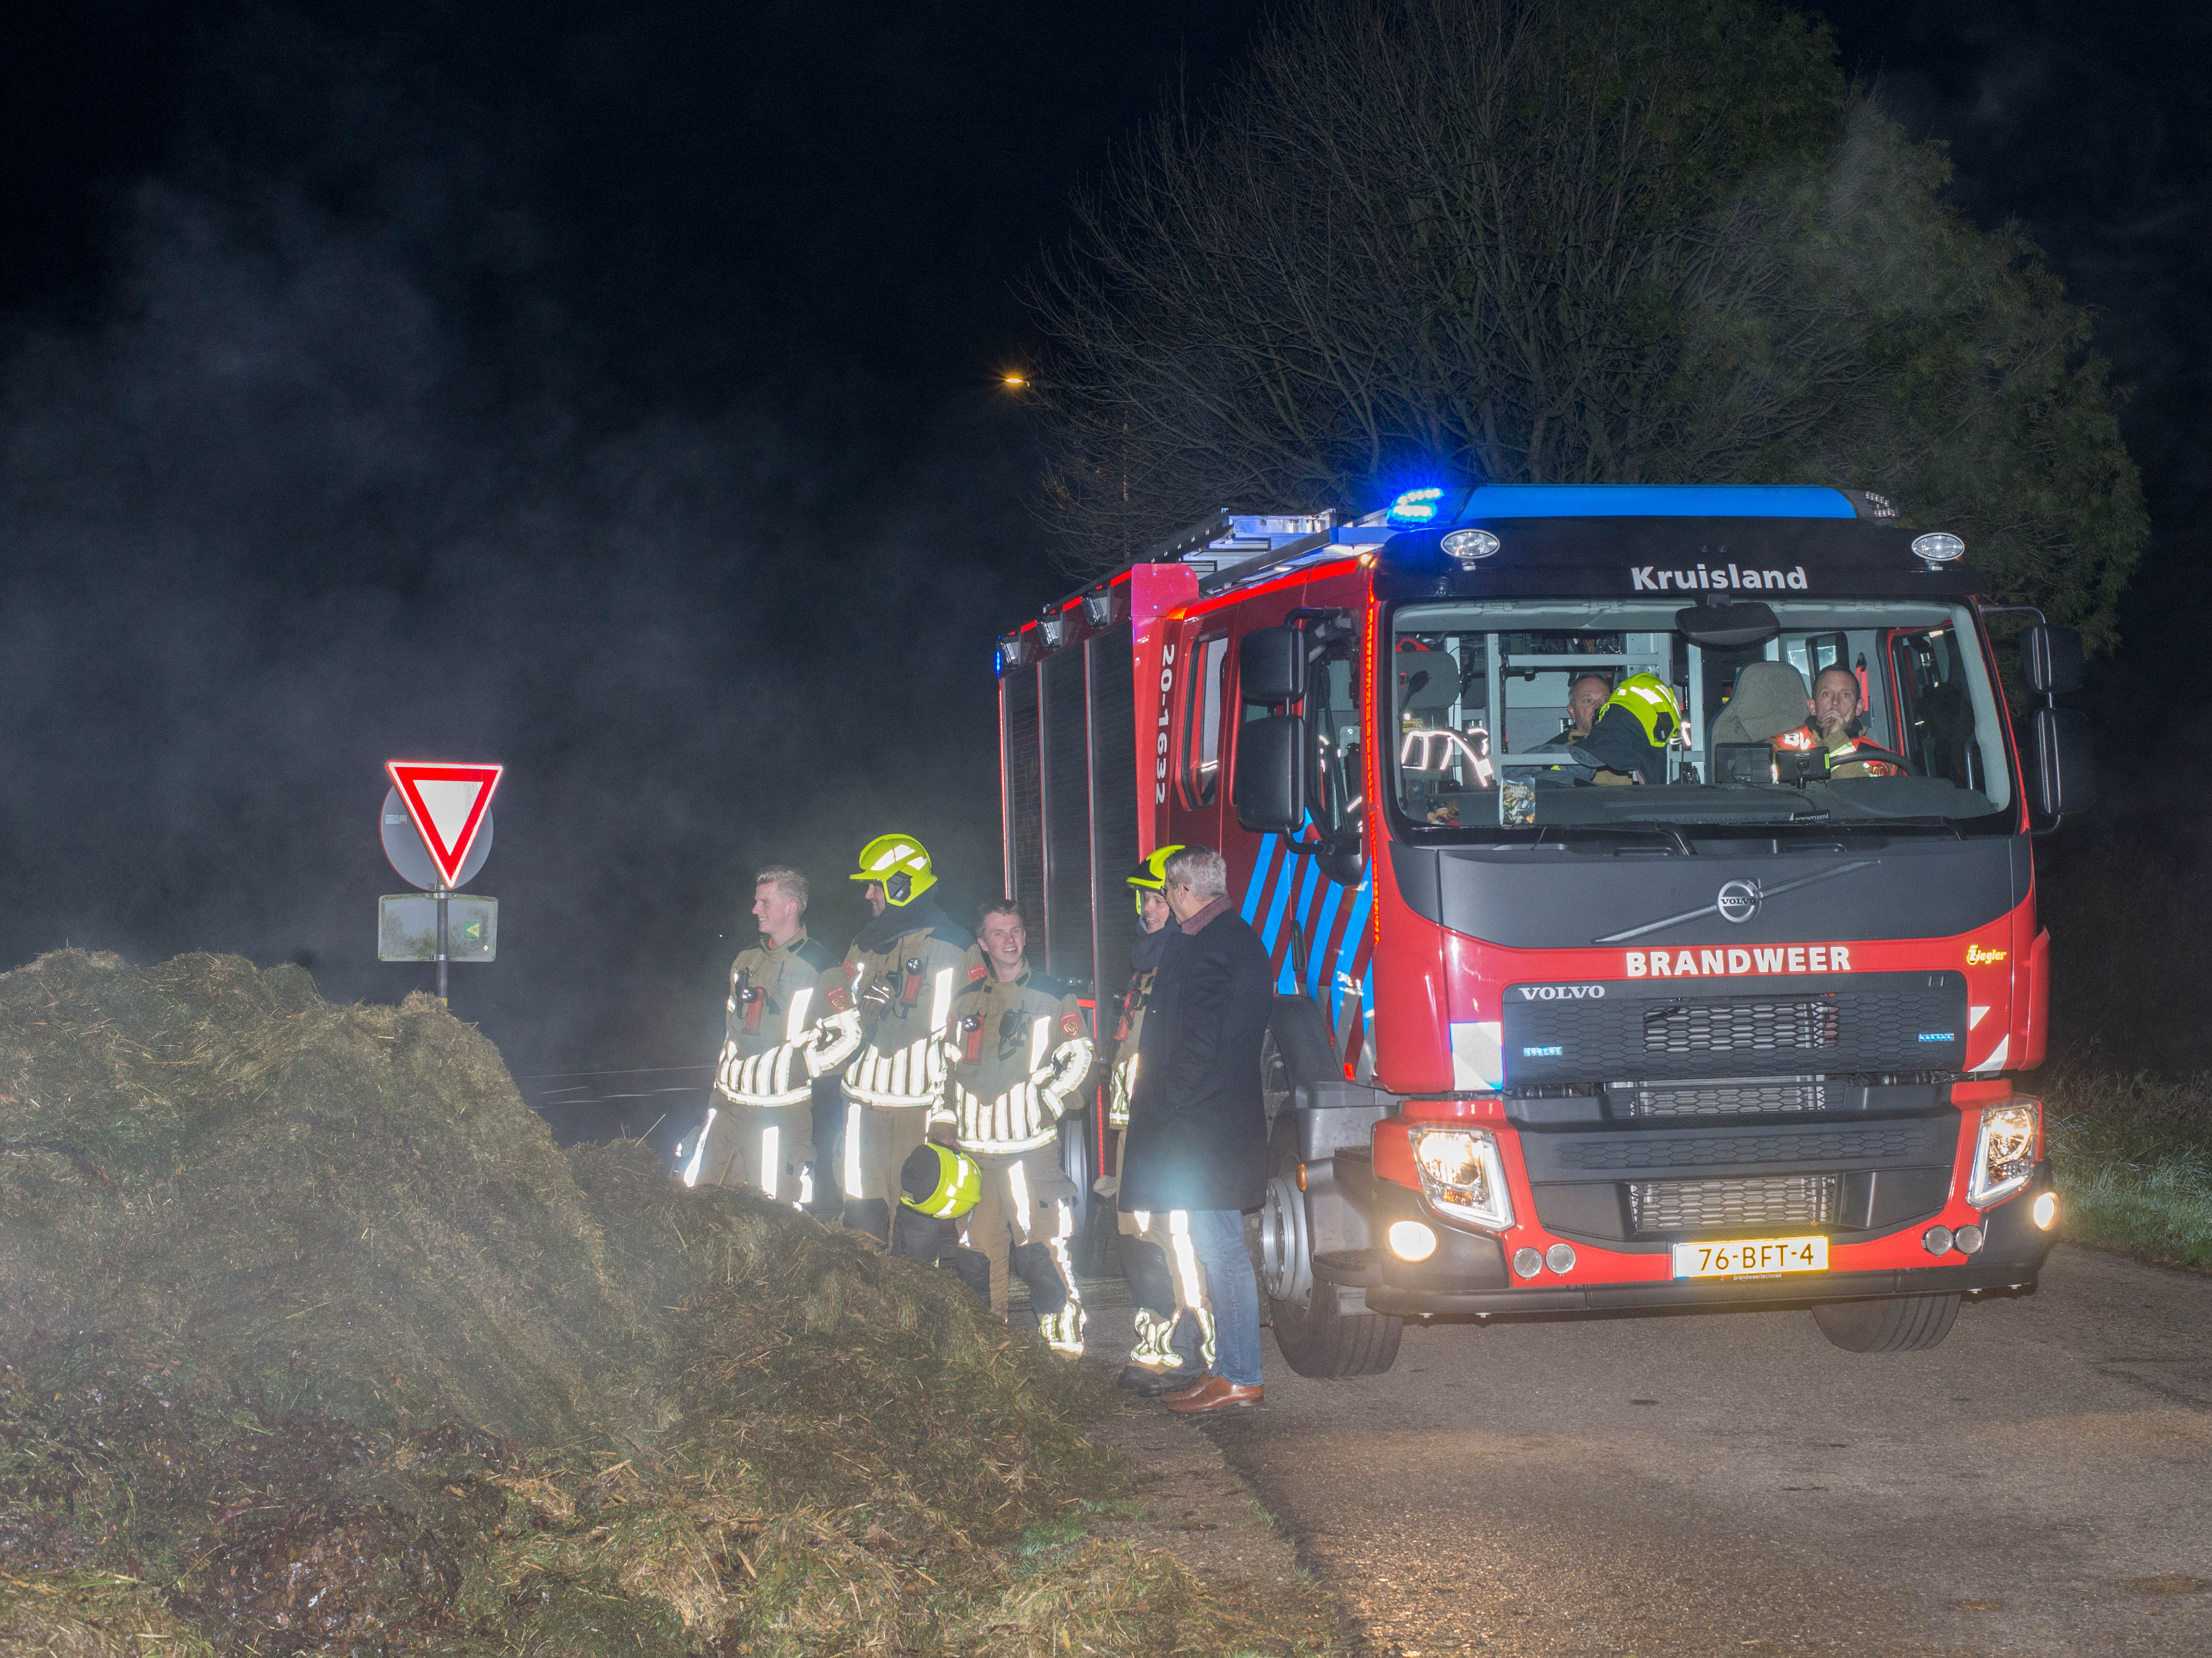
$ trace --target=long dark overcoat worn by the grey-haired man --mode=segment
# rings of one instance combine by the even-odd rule
[[[1137,1043],[1121,1209],[1256,1209],[1267,1187],[1259,1054],[1267,951],[1234,911],[1161,953]]]

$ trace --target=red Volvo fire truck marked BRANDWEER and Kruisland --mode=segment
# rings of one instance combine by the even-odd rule
[[[2017,634],[2015,723],[1962,553],[1840,489],[1422,489],[1223,511],[1000,641],[1048,970],[1113,1028],[1124,875],[1170,842],[1228,856],[1272,953],[1256,1251],[1294,1371],[1385,1371],[1407,1318],[1774,1302],[1920,1349],[2035,1284],[2057,1196],[2013,1074],[2031,838],[2090,805],[2081,646]],[[1590,676],[1672,696],[1632,776],[1562,741]],[[1805,741],[1816,683],[1874,765]],[[1088,1189],[1104,1123],[1066,1150]]]

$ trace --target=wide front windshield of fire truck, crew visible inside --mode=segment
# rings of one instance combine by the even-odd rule
[[[1400,608],[1389,641],[1398,734],[1385,747],[1398,831],[1498,840],[1637,822],[2011,827],[2000,692],[1966,606],[1770,606],[1781,634],[1734,650],[1683,639],[1674,601]],[[1650,676],[1637,681],[1641,701],[1628,705],[1639,696],[1630,688],[1604,703],[1635,676]],[[1624,723],[1632,718],[1635,730]]]

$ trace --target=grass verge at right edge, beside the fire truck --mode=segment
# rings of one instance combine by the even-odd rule
[[[2044,1099],[2064,1234],[2212,1271],[2212,1074],[2059,1070]]]

